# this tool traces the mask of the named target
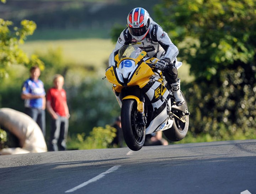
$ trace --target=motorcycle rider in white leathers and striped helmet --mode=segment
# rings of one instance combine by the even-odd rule
[[[163,29],[152,20],[149,13],[141,8],[134,8],[127,16],[127,28],[120,34],[116,47],[109,57],[109,65],[115,66],[114,56],[123,45],[136,45],[147,52],[148,57],[160,59],[155,67],[161,70],[174,95],[177,106],[184,104],[180,93],[180,79],[177,68],[172,65],[178,55],[178,48]],[[169,65],[170,64],[170,65]]]

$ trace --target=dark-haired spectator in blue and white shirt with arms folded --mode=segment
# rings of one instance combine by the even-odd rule
[[[22,85],[21,99],[25,100],[25,113],[37,122],[45,137],[46,93],[44,90],[44,84],[39,79],[41,74],[39,67],[31,67],[30,74],[31,77]]]

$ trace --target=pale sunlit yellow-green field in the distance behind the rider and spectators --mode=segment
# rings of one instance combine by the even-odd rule
[[[38,40],[27,41],[21,48],[29,55],[35,51],[47,52],[49,48],[62,48],[66,62],[102,67],[114,49],[114,44],[110,39]],[[178,72],[182,81],[192,81],[189,66],[185,63]]]

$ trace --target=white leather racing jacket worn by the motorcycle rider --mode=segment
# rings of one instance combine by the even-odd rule
[[[174,61],[178,55],[178,48],[172,43],[168,34],[152,19],[149,32],[141,41],[135,40],[129,33],[128,28],[123,30],[117,40],[116,47],[110,54],[109,66],[115,65],[114,56],[123,45],[128,44],[136,45],[146,51],[148,57],[156,57],[160,60],[165,59],[169,63]]]

